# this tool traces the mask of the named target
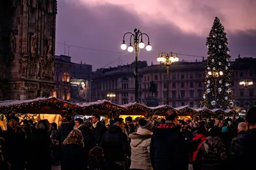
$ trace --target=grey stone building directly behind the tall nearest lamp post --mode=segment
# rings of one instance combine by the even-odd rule
[[[146,61],[138,63],[139,101],[141,101],[141,78],[143,67],[147,67]],[[109,92],[115,93],[111,99],[116,104],[128,104],[135,102],[135,64],[111,67],[108,69],[97,69],[92,76],[92,101],[108,99]]]

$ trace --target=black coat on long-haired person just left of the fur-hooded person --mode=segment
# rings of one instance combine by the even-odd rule
[[[51,157],[52,141],[50,133],[36,129],[29,138],[29,170],[50,170],[53,164]]]

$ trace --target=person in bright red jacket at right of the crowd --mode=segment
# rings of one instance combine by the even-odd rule
[[[206,140],[206,129],[205,127],[199,127],[197,130],[196,137],[192,139],[190,142],[190,153],[189,153],[189,159],[192,162],[193,169],[196,170],[195,166],[195,160],[196,160],[196,153],[198,152],[198,149],[200,145]]]

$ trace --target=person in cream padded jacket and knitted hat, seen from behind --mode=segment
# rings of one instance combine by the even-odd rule
[[[132,151],[130,169],[152,170],[149,152],[153,123],[145,118],[140,118],[138,124],[137,132],[129,135]]]

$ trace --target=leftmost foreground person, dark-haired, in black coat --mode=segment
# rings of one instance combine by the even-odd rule
[[[19,118],[10,115],[7,117],[8,128],[4,132],[5,139],[5,161],[12,170],[24,169],[26,164],[26,134],[19,125]]]

